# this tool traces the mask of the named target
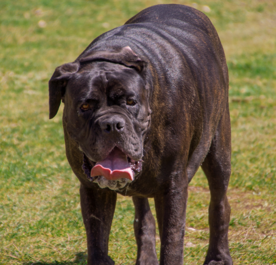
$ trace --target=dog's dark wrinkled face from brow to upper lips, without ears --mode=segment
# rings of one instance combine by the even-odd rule
[[[64,103],[67,132],[90,160],[103,160],[115,146],[142,158],[148,101],[134,69],[109,62],[85,66],[69,79]]]

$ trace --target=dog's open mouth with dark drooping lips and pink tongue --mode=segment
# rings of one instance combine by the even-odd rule
[[[104,160],[96,163],[83,153],[82,168],[90,181],[95,181],[99,176],[111,181],[121,178],[133,181],[142,170],[142,159],[135,161],[115,147]]]

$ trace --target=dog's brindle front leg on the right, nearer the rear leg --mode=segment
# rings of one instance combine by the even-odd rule
[[[175,177],[154,197],[161,239],[160,265],[183,265],[188,178]]]

